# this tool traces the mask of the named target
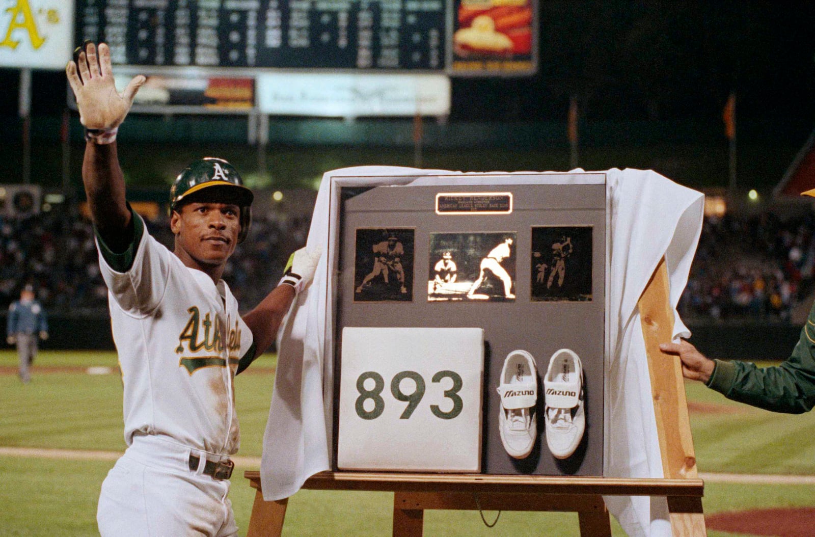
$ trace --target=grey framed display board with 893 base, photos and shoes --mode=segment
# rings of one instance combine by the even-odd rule
[[[343,178],[334,469],[602,475],[606,183],[569,177]]]

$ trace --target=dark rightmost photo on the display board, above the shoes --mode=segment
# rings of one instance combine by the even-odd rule
[[[592,231],[532,227],[532,301],[592,300]]]

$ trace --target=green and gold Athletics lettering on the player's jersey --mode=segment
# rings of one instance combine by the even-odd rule
[[[209,315],[209,311],[201,318],[197,306],[192,306],[187,310],[190,319],[184,329],[178,334],[178,347],[175,352],[181,354],[184,350],[189,353],[197,353],[200,350],[210,350],[213,354],[202,356],[183,356],[178,365],[187,368],[192,375],[196,369],[209,368],[212,366],[226,367],[227,360],[223,358],[223,351],[229,351],[229,363],[238,363],[238,357],[232,353],[240,352],[240,327],[235,319],[234,328],[229,328],[227,333],[226,324],[222,323],[218,315],[214,319]]]

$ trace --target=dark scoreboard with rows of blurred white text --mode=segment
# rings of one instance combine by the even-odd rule
[[[80,0],[114,64],[442,69],[446,0]]]

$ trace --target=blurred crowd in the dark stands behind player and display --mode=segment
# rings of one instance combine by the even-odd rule
[[[166,217],[148,231],[172,249]],[[249,237],[231,257],[224,279],[243,310],[280,280],[289,253],[306,242],[309,219],[254,213]],[[815,219],[773,213],[705,219],[679,310],[686,322],[787,322],[791,308],[813,288]],[[520,275],[518,276],[520,277]],[[52,211],[0,217],[0,306],[24,284],[54,313],[104,312],[107,290],[99,274],[93,227],[77,213]]]

